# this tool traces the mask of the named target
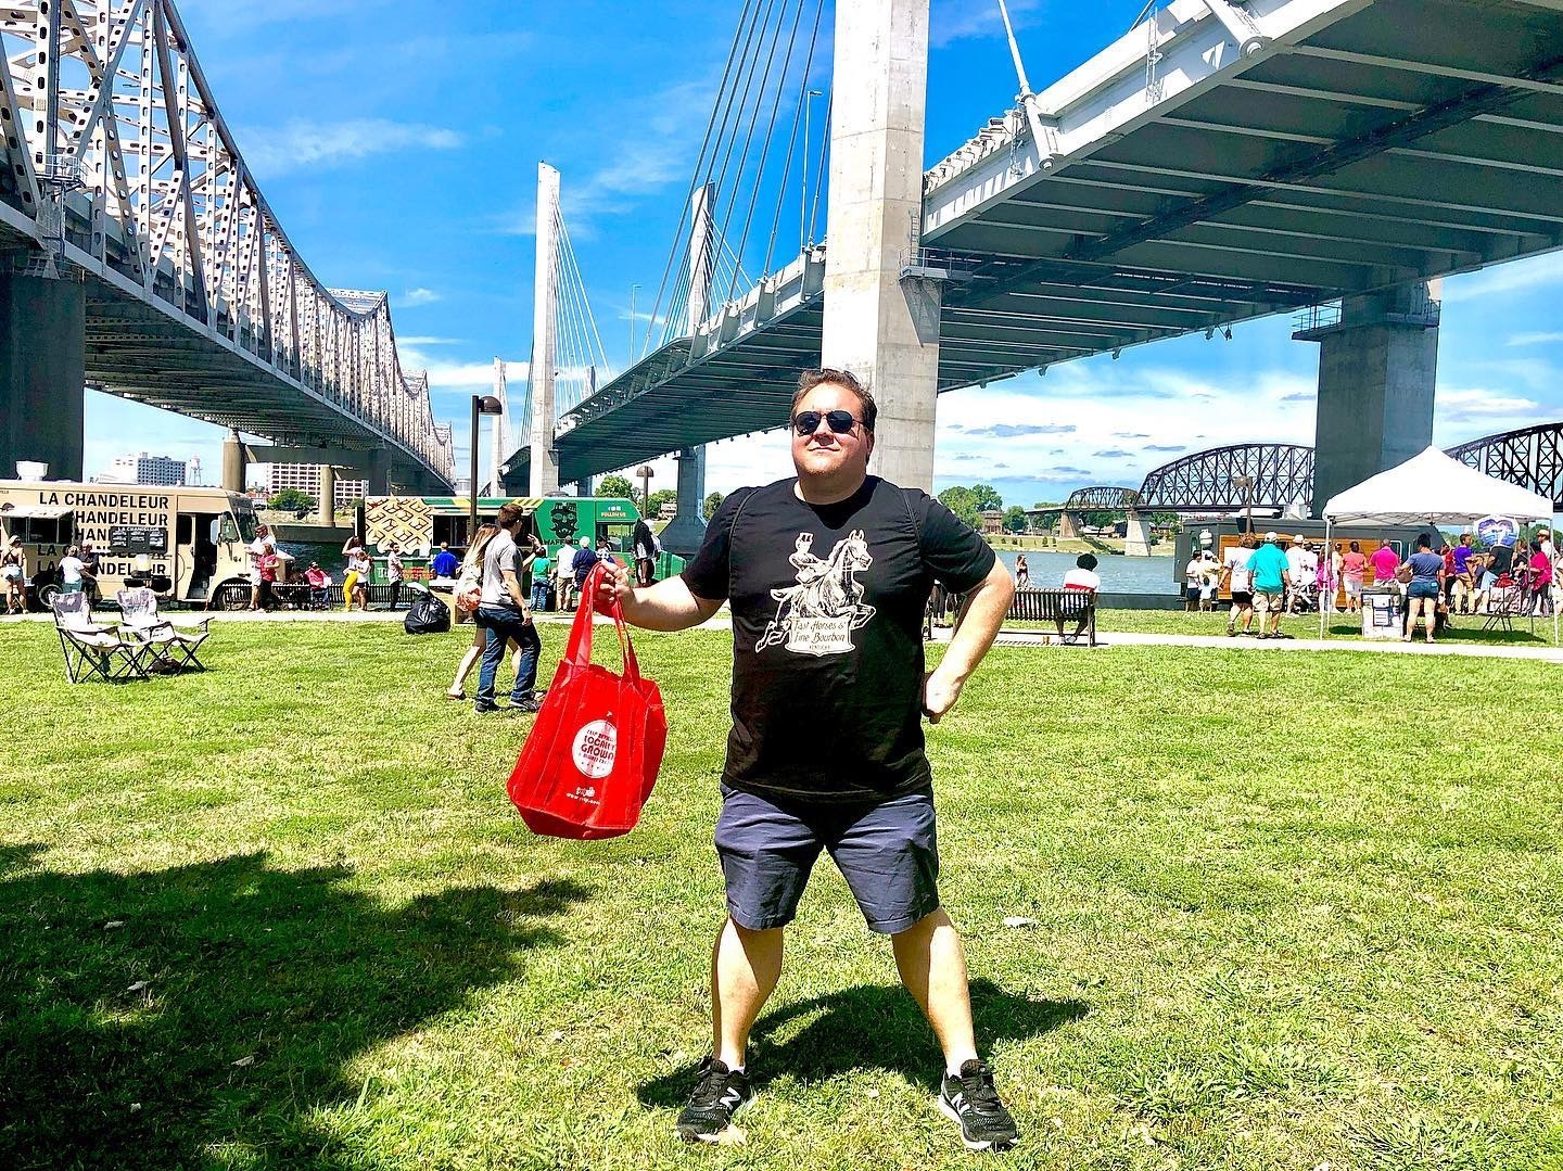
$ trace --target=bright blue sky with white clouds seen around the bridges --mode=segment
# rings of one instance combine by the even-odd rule
[[[1011,0],[1033,86],[1122,34],[1139,8]],[[436,416],[461,421],[461,466],[467,396],[489,385],[495,356],[524,374],[538,161],[563,174],[597,327],[621,363],[630,286],[641,285],[644,313],[738,9],[731,0],[180,0],[224,117],[308,264],[327,285],[391,292],[403,364],[427,367]],[[930,161],[1013,102],[996,11],[986,0],[933,0]],[[816,61],[817,88],[828,70],[828,56]],[[1446,283],[1440,444],[1563,417],[1560,292],[1560,255]],[[985,480],[1028,505],[1083,485],[1138,485],[1180,453],[1224,442],[1311,442],[1318,349],[1289,335],[1291,322],[1274,319],[1239,325],[1232,341],[1160,342],[946,394],[936,486]],[[214,427],[88,394],[89,475],[141,449],[200,455],[214,471],[220,442]],[[710,452],[708,488],[788,471],[780,435],[728,441]],[[674,475],[660,461],[655,485]]]

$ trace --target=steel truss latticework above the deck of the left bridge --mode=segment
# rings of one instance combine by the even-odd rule
[[[0,203],[13,228],[14,213],[33,225],[33,249],[61,169],[81,180],[56,225],[63,275],[95,283],[89,297],[139,299],[155,321],[183,321],[192,333],[169,350],[205,335],[245,355],[245,371],[305,391],[300,408],[336,419],[338,438],[389,441],[450,480],[449,427],[435,424],[427,378],[400,367],[386,294],[333,292],[294,250],[172,0],[0,3]],[[103,381],[131,397],[156,389]],[[245,408],[177,410],[241,424]]]

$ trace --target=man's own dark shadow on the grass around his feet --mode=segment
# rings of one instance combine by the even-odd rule
[[[977,1043],[1025,1040],[1078,1021],[1089,1012],[1085,1001],[1030,1001],[993,980],[972,980],[972,1021]],[[813,1018],[785,1041],[796,1021]],[[646,1082],[641,1102],[653,1107],[683,1105],[694,1088],[699,1062]],[[763,1013],[749,1041],[749,1071],[756,1083],[783,1074],[800,1082],[819,1082],[852,1069],[886,1069],[913,1085],[938,1088],[944,1058],[922,1012],[899,985],[858,985],[827,996]]]

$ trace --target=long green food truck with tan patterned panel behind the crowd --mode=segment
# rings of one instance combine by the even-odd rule
[[[467,522],[470,500],[464,496],[370,496],[358,508],[358,532],[364,544],[378,553],[395,543],[403,557],[430,557],[441,544],[461,553],[467,546]],[[552,555],[561,544],[578,544],[591,538],[596,549],[608,541],[619,557],[631,557],[635,522],[641,519],[633,500],[624,497],[594,496],[531,496],[531,497],[478,497],[478,524],[492,524],[494,516],[506,503],[527,510],[531,532],[549,547]],[[656,575],[669,577],[683,569],[683,558],[663,553],[658,558]],[[375,566],[375,580],[383,572]],[[410,572],[410,578],[417,574]]]

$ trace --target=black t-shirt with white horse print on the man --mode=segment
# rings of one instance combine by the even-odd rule
[[[796,480],[728,496],[685,566],[733,608],[733,730],[722,779],[767,797],[888,800],[925,788],[922,611],[994,552],[949,508],[871,475],[810,505]]]

